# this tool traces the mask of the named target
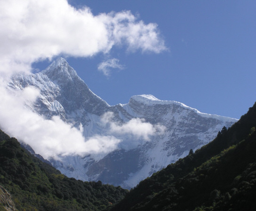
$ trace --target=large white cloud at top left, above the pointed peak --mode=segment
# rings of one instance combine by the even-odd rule
[[[94,16],[66,0],[0,1],[0,71],[28,71],[31,63],[64,54],[92,56],[114,45],[128,50],[165,50],[157,24],[138,21],[130,11]]]

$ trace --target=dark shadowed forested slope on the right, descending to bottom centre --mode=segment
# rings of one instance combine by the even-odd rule
[[[255,211],[256,104],[214,141],[132,189],[111,211]]]

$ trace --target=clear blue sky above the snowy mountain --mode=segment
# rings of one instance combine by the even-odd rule
[[[110,105],[132,95],[153,94],[201,112],[239,118],[256,101],[256,1],[254,0],[69,0],[94,16],[130,10],[145,24],[157,23],[167,50],[66,57],[89,88]],[[123,69],[98,70],[116,58]],[[48,62],[34,64],[45,68]]]

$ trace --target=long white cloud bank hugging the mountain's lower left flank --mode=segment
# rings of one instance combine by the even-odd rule
[[[39,91],[33,87],[10,91],[0,86],[0,127],[6,133],[15,134],[45,158],[68,155],[107,153],[117,148],[121,141],[110,135],[84,138],[80,130],[63,122],[59,117],[45,119],[31,109]],[[15,96],[15,97],[14,97]]]

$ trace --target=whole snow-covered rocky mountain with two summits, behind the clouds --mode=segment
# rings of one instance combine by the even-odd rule
[[[180,102],[161,101],[152,95],[132,96],[127,104],[110,106],[93,94],[65,59],[59,58],[46,70],[29,75],[15,75],[9,87],[23,89],[34,86],[41,94],[33,110],[45,118],[55,115],[79,128],[85,137],[109,134],[111,124],[102,124],[104,114],[119,126],[131,120],[158,125],[160,132],[144,141],[129,133],[116,133],[123,140],[119,148],[108,154],[65,156],[50,162],[62,173],[80,180],[132,188],[140,180],[186,156],[213,140],[223,126],[237,119],[199,112]],[[165,128],[165,130],[162,130]]]

